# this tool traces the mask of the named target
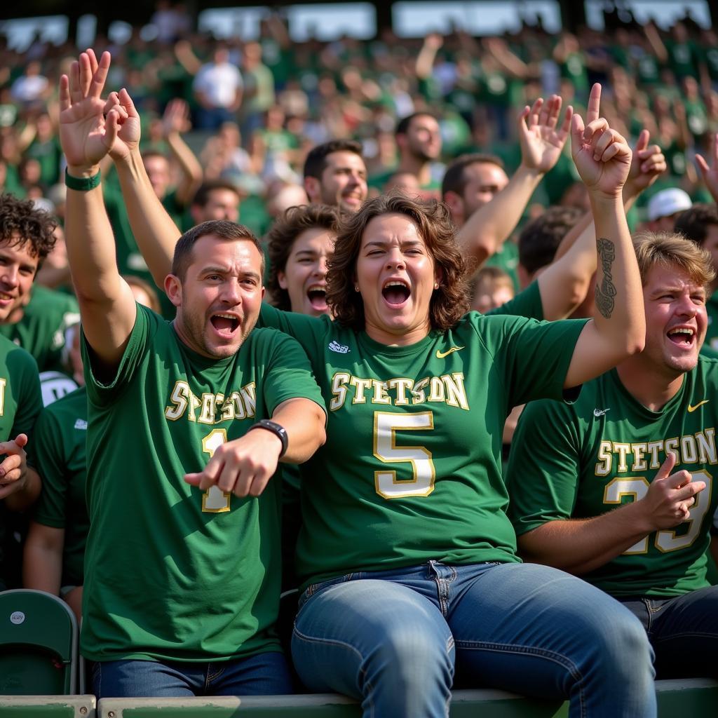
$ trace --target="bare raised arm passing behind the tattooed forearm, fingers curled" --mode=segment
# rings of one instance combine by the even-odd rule
[[[623,186],[623,207],[666,171],[666,158],[658,145],[649,145],[648,130],[638,137],[628,180]],[[586,298],[596,271],[596,229],[593,215],[586,213],[561,241],[553,264],[538,276],[544,319],[564,319]]]

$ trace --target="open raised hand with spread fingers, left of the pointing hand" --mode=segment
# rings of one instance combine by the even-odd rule
[[[561,126],[556,129],[561,114],[561,98],[551,95],[548,102],[538,98],[518,116],[518,139],[521,143],[521,163],[528,169],[548,172],[561,157],[561,150],[569,136],[573,108],[566,109]]]

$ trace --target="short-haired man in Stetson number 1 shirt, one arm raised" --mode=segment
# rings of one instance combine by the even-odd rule
[[[121,177],[144,173],[139,118],[124,90],[105,118],[109,64],[88,51],[60,80],[88,393],[81,645],[93,692],[289,692],[270,479],[280,460],[304,462],[324,442],[322,396],[297,342],[253,329],[264,268],[246,228],[218,220],[180,238],[164,281],[172,324],[136,304],[114,261],[98,164],[111,151]]]

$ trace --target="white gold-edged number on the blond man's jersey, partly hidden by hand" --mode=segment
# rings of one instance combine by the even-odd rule
[[[691,518],[683,523],[689,523],[689,529],[681,536],[676,536],[676,530],[664,528],[656,531],[656,549],[664,554],[668,551],[686,549],[690,546],[701,531],[701,523],[711,503],[711,484],[713,477],[705,471],[693,472],[694,481],[704,481],[706,488],[696,494],[696,503],[691,506]],[[633,496],[634,501],[640,501],[648,493],[648,481],[643,477],[626,479],[614,479],[607,485],[603,501],[604,503],[620,503],[621,497]],[[683,526],[683,523],[680,525]],[[631,554],[645,554],[648,551],[648,536],[642,538],[637,544],[623,551],[624,556]]]

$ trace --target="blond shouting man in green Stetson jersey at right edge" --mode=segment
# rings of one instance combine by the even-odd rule
[[[718,360],[699,357],[715,273],[706,251],[676,235],[644,236],[636,255],[645,349],[585,384],[572,406],[528,404],[509,514],[525,559],[581,576],[640,618],[659,677],[715,677],[718,587],[706,551]]]

